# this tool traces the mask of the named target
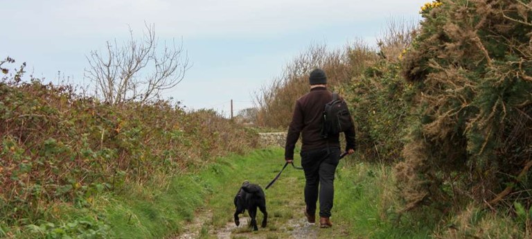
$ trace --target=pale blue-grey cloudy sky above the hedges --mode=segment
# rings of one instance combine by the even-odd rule
[[[254,92],[310,44],[339,48],[375,39],[391,19],[417,22],[425,1],[397,0],[17,0],[2,1],[0,57],[45,82],[57,71],[88,85],[86,55],[107,40],[141,37],[154,24],[159,43],[183,41],[193,67],[165,96],[191,109],[229,113],[252,106]],[[15,67],[15,66],[13,66]]]

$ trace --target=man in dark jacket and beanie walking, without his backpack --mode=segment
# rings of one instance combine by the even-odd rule
[[[310,223],[316,221],[316,203],[319,198],[319,224],[321,228],[332,226],[330,210],[334,198],[335,170],[340,155],[339,134],[321,135],[323,109],[332,100],[327,89],[327,76],[321,69],[310,73],[310,92],[296,100],[292,122],[285,145],[285,161],[292,163],[294,148],[301,134],[301,166],[305,171],[305,216]],[[355,149],[355,127],[344,132],[346,152]]]

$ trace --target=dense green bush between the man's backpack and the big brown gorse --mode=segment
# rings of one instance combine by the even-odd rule
[[[364,159],[392,163],[402,158],[402,138],[414,90],[398,76],[397,62],[380,59],[347,88],[346,99],[357,129],[357,150]]]

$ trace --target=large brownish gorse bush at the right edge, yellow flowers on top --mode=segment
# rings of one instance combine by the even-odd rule
[[[532,15],[527,0],[442,0],[421,10],[402,72],[411,98],[402,196],[531,206]],[[444,206],[444,205],[441,205]]]

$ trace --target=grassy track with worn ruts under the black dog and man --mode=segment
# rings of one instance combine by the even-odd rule
[[[193,222],[188,222],[182,233],[172,238],[353,238],[349,225],[335,220],[332,229],[319,229],[308,224],[303,215],[304,175],[302,170],[287,167],[277,182],[265,191],[268,226],[259,231],[247,227],[247,213],[240,215],[240,227],[233,222],[233,197],[244,180],[265,188],[283,167],[283,152],[270,148],[256,150],[246,156],[220,159],[210,166],[202,177],[212,187],[206,205],[199,208]],[[296,159],[296,163],[300,163]],[[333,212],[334,213],[334,212]],[[262,213],[258,213],[258,221]]]

